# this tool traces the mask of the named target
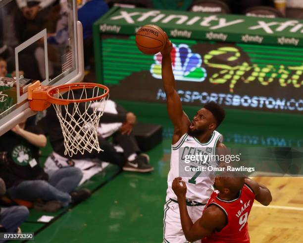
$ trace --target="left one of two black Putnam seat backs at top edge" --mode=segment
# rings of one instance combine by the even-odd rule
[[[229,6],[220,0],[196,0],[188,10],[202,13],[231,13]]]

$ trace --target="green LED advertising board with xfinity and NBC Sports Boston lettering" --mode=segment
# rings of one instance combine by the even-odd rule
[[[144,55],[135,43],[138,24],[150,21],[173,42],[173,72],[183,104],[215,101],[233,109],[303,111],[303,24],[298,20],[162,12],[117,8],[95,24],[97,78],[110,86],[111,98],[165,102],[161,54]]]

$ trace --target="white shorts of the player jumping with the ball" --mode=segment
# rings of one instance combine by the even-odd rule
[[[205,205],[187,206],[187,211],[193,223],[202,216]],[[163,219],[163,242],[164,243],[187,243],[180,219],[179,204],[166,197]],[[198,241],[200,242],[200,241]]]

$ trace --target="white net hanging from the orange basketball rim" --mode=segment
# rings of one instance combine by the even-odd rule
[[[64,94],[57,89],[56,96],[59,99],[84,100],[101,96],[105,91],[98,86],[94,88],[84,86],[83,89],[77,90],[69,88]],[[73,102],[68,105],[53,104],[64,136],[65,155],[72,157],[78,152],[91,153],[94,149],[98,152],[103,151],[98,141],[98,125],[107,99],[108,95],[96,101]]]

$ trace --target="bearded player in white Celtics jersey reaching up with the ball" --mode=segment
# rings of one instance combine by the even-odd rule
[[[221,142],[223,137],[215,129],[225,118],[224,110],[210,102],[200,109],[193,121],[182,110],[180,97],[176,91],[175,78],[172,71],[170,52],[172,43],[166,36],[166,45],[162,54],[162,81],[166,94],[167,112],[174,124],[172,137],[170,171],[167,178],[167,195],[164,205],[163,242],[186,243],[187,240],[182,231],[177,196],[172,190],[172,182],[179,177],[179,150],[182,155],[193,154],[199,148],[200,153],[214,155],[218,148],[226,150]],[[196,150],[197,151],[197,150]],[[181,175],[182,176],[182,175]],[[183,180],[185,180],[183,176]],[[202,211],[213,192],[213,177],[199,177],[199,172],[192,178],[187,178],[187,209],[193,222],[201,216]]]

